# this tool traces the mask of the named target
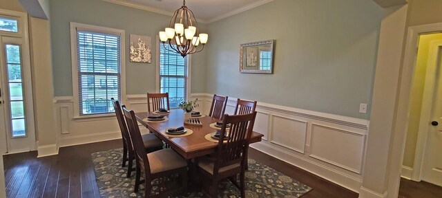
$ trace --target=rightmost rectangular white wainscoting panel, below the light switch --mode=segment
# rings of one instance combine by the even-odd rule
[[[310,157],[361,173],[365,135],[313,124]]]

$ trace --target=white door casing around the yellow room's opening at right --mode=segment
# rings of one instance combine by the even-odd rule
[[[394,120],[394,131],[392,137],[392,146],[390,146],[390,173],[387,195],[388,197],[398,197],[401,170],[403,166],[403,155],[405,151],[405,142],[407,139],[408,115],[410,113],[410,92],[412,88],[412,77],[416,67],[416,58],[418,50],[418,40],[420,34],[429,34],[442,32],[442,23],[432,23],[426,25],[410,26],[407,31],[407,40],[405,43],[405,54],[403,56],[403,67],[399,76],[400,84],[398,85],[398,97],[396,99],[397,106],[396,119]]]

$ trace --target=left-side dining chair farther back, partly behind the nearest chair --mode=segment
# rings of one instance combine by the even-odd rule
[[[122,113],[122,107],[119,106],[118,100],[111,98],[113,107],[115,109],[115,115],[117,115],[117,120],[119,124],[119,129],[122,132],[122,140],[123,140],[123,162],[122,167],[126,166],[126,162],[128,162],[127,174],[126,177],[131,177],[131,173],[134,170],[133,159],[135,159],[135,153],[133,149],[133,144],[131,141],[131,136],[128,132],[128,128],[126,125],[126,121],[124,121],[124,115]],[[124,107],[124,105],[123,105]],[[141,135],[141,140],[144,144],[144,150],[146,152],[158,151],[163,148],[163,142],[153,133],[148,133]]]

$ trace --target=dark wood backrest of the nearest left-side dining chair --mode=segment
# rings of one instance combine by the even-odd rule
[[[138,128],[137,118],[135,117],[135,113],[133,113],[132,110],[126,109],[124,105],[122,106],[122,108],[124,117],[126,117],[129,133],[131,134],[131,140],[133,148],[135,150],[135,158],[138,162],[140,162],[139,165],[141,166],[142,170],[146,171],[146,177],[148,177],[148,175],[150,175],[151,173],[151,168],[147,159],[147,153],[144,148],[140,128]]]

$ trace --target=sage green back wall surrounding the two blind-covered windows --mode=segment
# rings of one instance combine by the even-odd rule
[[[177,6],[180,4],[177,4]],[[52,37],[52,65],[55,96],[73,96],[70,61],[70,22],[117,28],[126,31],[126,94],[155,92],[156,52],[152,63],[129,62],[129,36],[151,36],[155,45],[156,35],[169,25],[171,17],[146,10],[129,8],[102,0],[51,0],[50,26]],[[206,32],[200,24],[200,32]],[[155,49],[155,48],[153,48]],[[192,57],[191,91],[205,91],[204,53]]]

